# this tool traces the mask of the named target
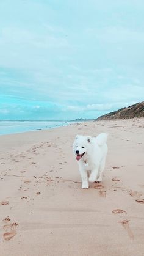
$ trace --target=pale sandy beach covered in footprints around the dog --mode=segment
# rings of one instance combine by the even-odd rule
[[[112,120],[0,136],[0,255],[144,255],[143,128]],[[103,182],[83,190],[71,145],[103,131]]]

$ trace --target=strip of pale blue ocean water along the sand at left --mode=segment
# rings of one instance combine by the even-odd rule
[[[0,135],[12,133],[24,133],[25,131],[37,131],[67,126],[71,122],[66,121],[3,121],[0,120]]]

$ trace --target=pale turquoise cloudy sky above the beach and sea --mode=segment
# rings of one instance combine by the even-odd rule
[[[0,120],[96,117],[143,101],[143,0],[1,0]]]

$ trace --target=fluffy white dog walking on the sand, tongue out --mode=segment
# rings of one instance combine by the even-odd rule
[[[83,189],[88,188],[88,181],[102,181],[107,156],[106,142],[106,133],[100,133],[97,137],[76,136],[73,143],[73,151],[79,164]]]

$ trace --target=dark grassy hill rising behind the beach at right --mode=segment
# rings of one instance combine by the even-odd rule
[[[136,103],[128,108],[121,108],[106,115],[101,115],[96,120],[109,119],[131,119],[133,117],[144,117],[144,101]]]

